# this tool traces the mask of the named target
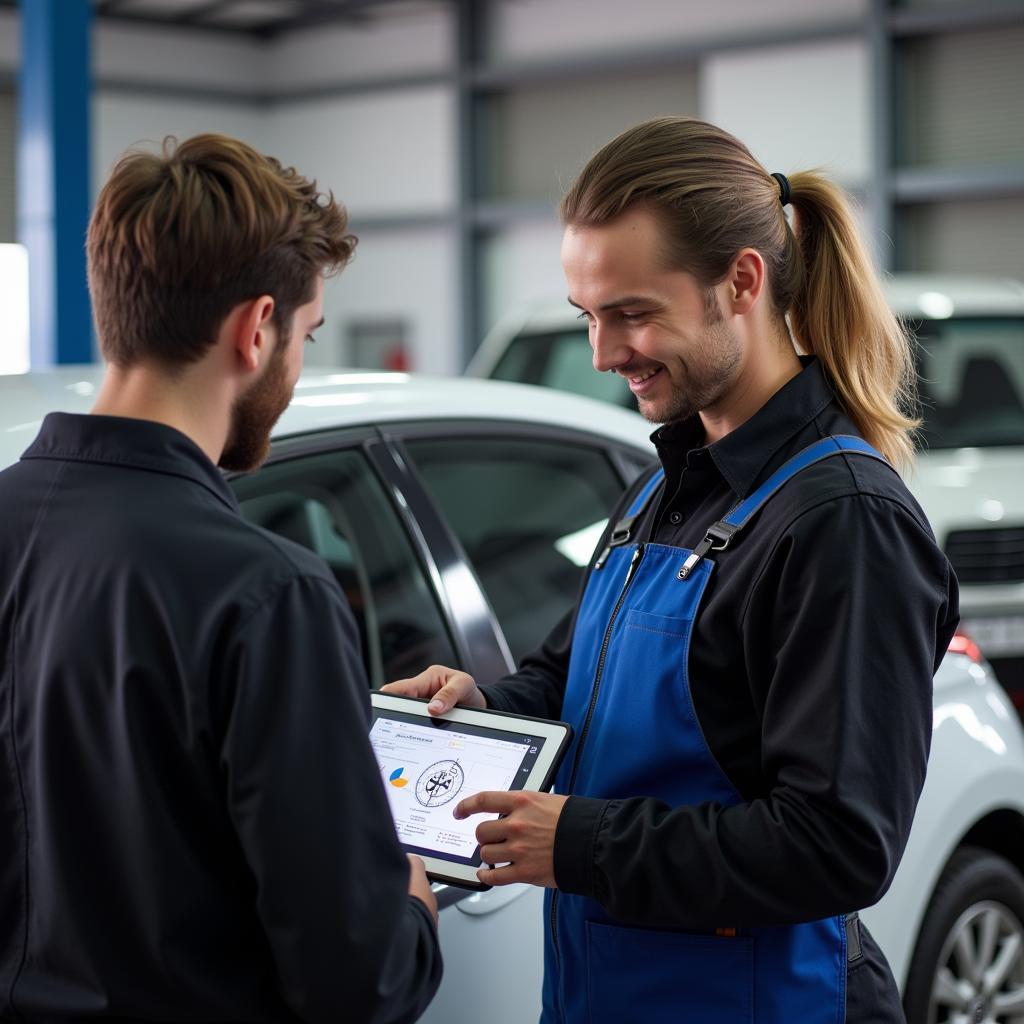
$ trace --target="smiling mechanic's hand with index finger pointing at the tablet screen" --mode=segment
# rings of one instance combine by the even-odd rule
[[[477,793],[455,809],[459,819],[471,814],[503,814],[476,829],[480,859],[501,867],[481,867],[476,877],[488,886],[528,882],[555,886],[555,828],[568,797],[554,793]]]

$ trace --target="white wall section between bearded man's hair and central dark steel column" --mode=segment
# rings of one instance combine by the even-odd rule
[[[360,338],[393,331],[411,369],[461,369],[456,92],[431,81],[451,66],[454,38],[450,8],[436,5],[274,44],[267,82],[284,98],[266,112],[267,152],[332,189],[359,236],[355,260],[325,289],[308,365],[352,365]]]

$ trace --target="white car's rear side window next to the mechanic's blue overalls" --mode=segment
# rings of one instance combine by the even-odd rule
[[[508,437],[409,439],[516,663],[573,604],[623,493],[603,452]]]

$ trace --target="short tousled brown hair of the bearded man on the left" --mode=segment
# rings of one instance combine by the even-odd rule
[[[87,240],[100,350],[116,366],[201,358],[240,302],[270,295],[286,332],[317,275],[356,239],[333,194],[226,135],[130,151],[96,201]]]

